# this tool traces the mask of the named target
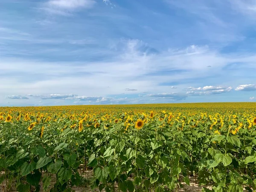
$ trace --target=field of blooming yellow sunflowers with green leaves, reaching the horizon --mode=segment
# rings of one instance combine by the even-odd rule
[[[256,192],[256,103],[0,107],[0,150],[3,191]]]

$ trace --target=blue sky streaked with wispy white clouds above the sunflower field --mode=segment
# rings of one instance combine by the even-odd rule
[[[1,0],[0,106],[256,101],[253,0]]]

